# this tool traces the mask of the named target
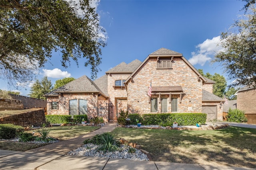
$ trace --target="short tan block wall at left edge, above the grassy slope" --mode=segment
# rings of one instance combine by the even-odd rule
[[[0,99],[0,111],[3,110],[22,110],[23,104],[21,100]]]

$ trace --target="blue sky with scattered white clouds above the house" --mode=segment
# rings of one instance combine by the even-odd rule
[[[241,0],[100,0],[94,1],[99,24],[106,32],[106,47],[102,47],[101,71],[98,78],[110,68],[146,57],[166,48],[181,53],[196,69],[204,73],[223,75],[231,80],[218,63],[212,64],[222,32],[228,30],[239,16],[245,2]],[[51,60],[40,68],[37,79],[47,76],[54,85],[64,77],[90,78],[90,66],[84,67],[84,59],[61,66],[61,53],[52,53]],[[10,88],[0,80],[1,90]],[[31,84],[18,87],[22,96],[28,96]]]

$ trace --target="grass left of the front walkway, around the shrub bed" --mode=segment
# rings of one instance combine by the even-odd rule
[[[51,127],[50,137],[58,138],[58,140],[67,140],[80,135],[85,135],[91,131],[98,129],[99,127],[92,126],[58,126]],[[34,130],[36,132],[36,130]],[[32,131],[26,131],[32,133]],[[4,150],[16,150],[25,151],[34,149],[37,147],[42,147],[47,144],[32,144],[32,143],[22,143],[22,142],[12,142],[12,141],[0,141],[0,149]]]

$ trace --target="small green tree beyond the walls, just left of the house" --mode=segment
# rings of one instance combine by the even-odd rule
[[[51,80],[48,80],[47,76],[44,76],[41,82],[36,79],[36,82],[32,85],[30,89],[29,96],[32,98],[46,100],[46,97],[44,97],[44,95],[50,91],[52,91]]]

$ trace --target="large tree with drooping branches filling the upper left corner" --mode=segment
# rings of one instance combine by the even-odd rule
[[[0,0],[0,78],[8,84],[34,79],[34,71],[62,53],[65,68],[84,58],[96,78],[106,45],[91,0]],[[30,71],[32,70],[32,71]],[[7,76],[5,76],[7,75]]]

